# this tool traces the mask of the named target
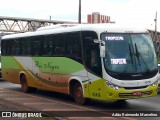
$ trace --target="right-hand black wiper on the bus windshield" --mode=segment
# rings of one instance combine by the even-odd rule
[[[136,55],[136,57],[137,57],[137,59],[138,59],[139,65],[140,65],[140,59],[139,59],[139,58],[141,57],[144,65],[145,65],[145,67],[147,68],[147,72],[150,72],[150,69],[149,69],[146,61],[145,61],[144,58],[142,57],[141,53],[138,51],[138,48],[137,48],[137,44],[136,44],[136,43],[135,43],[135,50],[136,50],[135,55]]]

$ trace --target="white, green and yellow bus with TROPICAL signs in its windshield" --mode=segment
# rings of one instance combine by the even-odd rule
[[[89,99],[155,96],[157,59],[149,32],[116,24],[84,24],[2,38],[2,77],[21,84]]]

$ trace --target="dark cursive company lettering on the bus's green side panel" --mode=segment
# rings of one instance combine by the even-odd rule
[[[49,69],[51,71],[59,69],[59,66],[54,65],[53,62],[40,63],[39,61],[35,61],[35,65],[38,68]]]

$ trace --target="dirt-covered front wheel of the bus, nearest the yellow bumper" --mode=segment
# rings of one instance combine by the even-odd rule
[[[89,102],[89,99],[83,96],[82,86],[78,83],[74,85],[73,97],[75,102],[81,105],[87,104]]]

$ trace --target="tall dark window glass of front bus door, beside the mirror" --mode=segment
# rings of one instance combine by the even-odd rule
[[[95,32],[92,31],[82,32],[84,62],[89,70],[102,76],[99,44],[95,43],[94,39],[98,39],[98,36]]]

